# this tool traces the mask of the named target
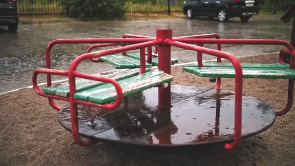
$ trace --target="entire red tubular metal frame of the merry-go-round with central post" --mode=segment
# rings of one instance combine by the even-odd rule
[[[215,37],[217,39],[201,39],[201,38],[209,38]],[[131,39],[127,39],[131,38]],[[55,44],[61,43],[99,43],[92,45],[88,48],[87,53],[82,54],[76,57],[70,65],[68,71],[63,70],[54,70],[51,69],[50,64],[50,50]],[[197,46],[191,45],[197,44]],[[217,44],[217,50],[208,49],[202,47],[203,44]],[[151,47],[156,46],[156,50],[158,51],[159,56],[159,66],[158,68],[165,73],[171,73],[171,46],[176,46],[188,50],[197,51],[197,61],[199,66],[203,66],[202,64],[202,53],[206,53],[209,55],[217,56],[217,62],[221,61],[221,58],[229,59],[229,61],[233,64],[236,72],[235,77],[235,117],[234,117],[234,141],[232,144],[225,144],[226,149],[232,149],[240,144],[241,141],[241,120],[242,120],[242,84],[243,84],[243,77],[242,77],[242,68],[239,60],[232,54],[227,52],[221,51],[221,44],[273,44],[273,45],[283,45],[286,46],[289,51],[291,52],[291,60],[290,60],[290,68],[295,68],[294,56],[295,51],[291,44],[281,40],[256,40],[256,39],[220,39],[217,34],[206,34],[206,35],[196,35],[196,36],[184,36],[184,37],[175,37],[172,38],[172,30],[157,30],[156,38],[148,37],[148,36],[139,36],[139,35],[132,35],[132,34],[125,34],[123,35],[122,39],[58,39],[54,40],[49,43],[46,49],[46,68],[45,69],[37,69],[33,72],[32,82],[33,88],[37,94],[47,97],[49,100],[49,104],[54,108],[59,110],[60,107],[57,106],[53,99],[57,100],[64,100],[70,102],[71,108],[71,119],[72,119],[72,135],[73,139],[77,144],[80,145],[89,145],[93,143],[92,140],[82,140],[78,134],[78,117],[77,117],[77,104],[84,104],[99,108],[106,108],[106,109],[114,109],[120,105],[123,100],[123,93],[120,85],[113,79],[106,78],[106,77],[98,77],[93,76],[81,72],[77,72],[77,66],[84,60],[92,60],[93,62],[97,62],[97,59],[101,56],[111,55],[115,53],[126,52],[129,50],[136,50],[140,49],[140,74],[145,72],[145,48],[148,48],[148,58],[151,59]],[[109,50],[102,50],[97,52],[90,52],[95,47],[104,47],[104,46],[115,46],[115,45],[122,45],[123,47],[113,48]],[[37,75],[39,73],[47,74],[47,85],[50,86],[51,83],[51,75],[63,75],[69,78],[69,89],[70,95],[69,97],[59,97],[55,95],[49,95],[43,93],[37,84]],[[96,81],[102,81],[111,83],[115,86],[117,91],[117,99],[112,104],[96,104],[90,101],[82,101],[76,100],[74,98],[74,94],[76,93],[76,83],[75,78],[84,78],[84,79],[91,79]],[[220,80],[218,81],[216,88],[219,89],[220,87]],[[294,90],[294,79],[289,79],[289,89],[288,89],[288,103],[285,109],[280,112],[277,112],[276,116],[281,116],[286,114],[292,104],[293,104],[293,90]],[[169,108],[171,105],[171,90],[170,90],[170,83],[168,86],[159,86],[158,91],[158,98],[159,103],[158,106],[160,109]]]

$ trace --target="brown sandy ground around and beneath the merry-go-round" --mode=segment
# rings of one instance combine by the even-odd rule
[[[278,62],[278,55],[241,59],[242,62]],[[208,78],[172,68],[172,84],[214,86]],[[244,79],[243,93],[268,102],[275,110],[285,106],[287,80]],[[233,90],[234,79],[223,79],[222,89]],[[57,102],[63,104],[62,102]],[[144,149],[110,143],[82,147],[57,122],[57,111],[46,98],[26,88],[0,95],[0,166],[292,166],[295,164],[295,110],[277,117],[267,131],[242,140],[235,150],[216,146],[184,149]]]

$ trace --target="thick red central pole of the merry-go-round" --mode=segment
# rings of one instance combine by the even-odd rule
[[[161,43],[158,47],[158,68],[159,70],[164,71],[167,74],[171,74],[171,46],[165,44],[166,39],[172,39],[172,30],[171,29],[163,29],[157,30],[157,39],[162,39],[163,43]],[[158,88],[158,107],[159,108],[170,108],[171,106],[171,87],[170,83],[168,86],[162,85]]]

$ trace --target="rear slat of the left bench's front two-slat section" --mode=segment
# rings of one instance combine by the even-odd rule
[[[153,71],[150,71],[150,72],[147,72],[147,73],[144,73],[144,74],[140,74],[140,75],[137,75],[137,76],[133,76],[133,77],[124,79],[124,80],[120,80],[120,81],[118,81],[118,83],[120,84],[121,87],[123,87],[125,85],[130,84],[130,83],[134,83],[134,82],[138,82],[140,80],[145,80],[145,79],[148,79],[148,78],[152,78],[152,77],[155,77],[157,75],[161,75],[163,73],[164,72],[161,71],[161,70],[153,70]],[[110,91],[112,89],[114,89],[114,86],[112,84],[108,83],[108,84],[105,84],[105,85],[102,85],[102,86],[98,86],[98,87],[94,87],[94,88],[91,88],[91,89],[84,90],[84,91],[79,92],[79,93],[75,93],[74,97],[76,99],[79,99],[79,100],[88,100],[89,96],[95,96],[95,95],[98,95],[99,93],[107,92],[107,91]]]

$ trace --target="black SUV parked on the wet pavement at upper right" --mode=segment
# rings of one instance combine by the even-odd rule
[[[259,12],[258,0],[187,0],[183,12],[188,19],[195,16],[217,17],[219,21],[227,21],[230,17],[240,17],[242,22],[248,21]]]

